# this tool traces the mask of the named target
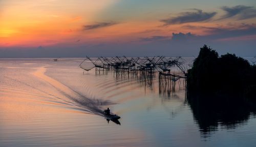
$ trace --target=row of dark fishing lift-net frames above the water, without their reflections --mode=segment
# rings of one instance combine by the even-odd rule
[[[167,74],[170,71],[182,73],[187,72],[187,66],[182,57],[87,57],[79,65],[80,68],[90,71],[96,69],[108,69],[115,71],[148,71],[153,72],[155,69],[160,73]]]

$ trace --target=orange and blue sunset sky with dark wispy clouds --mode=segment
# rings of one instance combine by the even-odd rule
[[[256,1],[0,0],[0,57],[256,55]]]

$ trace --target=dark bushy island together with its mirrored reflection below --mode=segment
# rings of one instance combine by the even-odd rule
[[[187,103],[203,137],[232,129],[256,115],[256,66],[204,45],[187,72]]]

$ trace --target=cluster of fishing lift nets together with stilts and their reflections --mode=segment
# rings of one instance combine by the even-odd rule
[[[85,71],[95,68],[96,74],[114,73],[116,78],[136,78],[151,85],[159,75],[159,92],[175,91],[176,83],[185,87],[185,61],[181,57],[86,57],[79,65]],[[182,79],[182,80],[181,80]]]

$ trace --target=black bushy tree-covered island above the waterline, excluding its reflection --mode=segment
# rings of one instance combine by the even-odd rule
[[[200,48],[187,73],[188,95],[246,98],[256,101],[256,66],[235,54],[219,54],[207,45]]]

